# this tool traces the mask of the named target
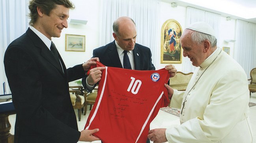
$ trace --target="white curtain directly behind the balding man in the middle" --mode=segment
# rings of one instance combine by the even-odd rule
[[[112,24],[120,16],[131,17],[137,27],[136,43],[149,47],[152,62],[157,66],[160,60],[160,43],[156,40],[159,29],[160,0],[101,0],[100,46],[114,40]],[[156,67],[157,69],[157,67]]]

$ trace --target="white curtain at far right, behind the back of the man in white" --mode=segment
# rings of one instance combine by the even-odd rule
[[[234,59],[243,67],[248,79],[256,67],[256,24],[236,20]]]

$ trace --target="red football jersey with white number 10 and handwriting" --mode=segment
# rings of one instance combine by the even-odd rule
[[[151,121],[170,103],[164,87],[169,76],[165,69],[106,67],[84,129],[99,128],[93,135],[103,143],[146,143]]]

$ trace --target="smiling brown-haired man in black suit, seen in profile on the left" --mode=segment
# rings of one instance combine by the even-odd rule
[[[4,66],[17,112],[15,143],[77,143],[99,140],[78,131],[69,82],[85,76],[98,58],[66,69],[51,37],[67,28],[69,0],[30,1],[30,28],[6,49]]]

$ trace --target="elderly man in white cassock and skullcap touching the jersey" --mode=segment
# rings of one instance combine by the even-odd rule
[[[186,91],[164,85],[170,107],[181,109],[181,125],[150,130],[154,143],[252,143],[247,75],[217,47],[215,37],[205,22],[191,24],[181,35],[183,56],[197,68]]]

